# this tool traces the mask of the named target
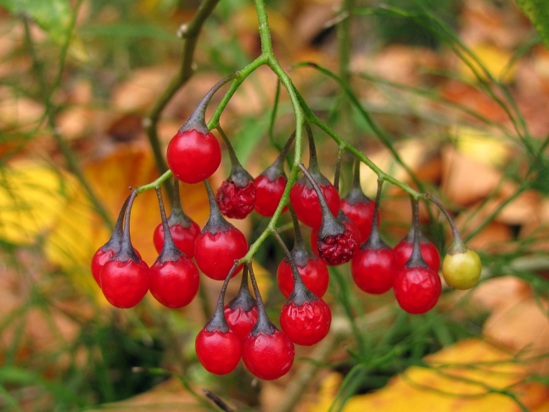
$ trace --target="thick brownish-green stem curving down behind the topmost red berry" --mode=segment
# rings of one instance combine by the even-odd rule
[[[214,11],[219,0],[204,0],[200,3],[197,13],[193,19],[181,26],[180,35],[184,38],[183,52],[180,60],[180,66],[175,76],[173,76],[170,84],[160,95],[150,110],[147,117],[143,119],[143,126],[145,133],[149,139],[150,147],[153,150],[154,158],[156,161],[156,167],[159,173],[164,173],[167,170],[166,161],[164,159],[164,153],[160,148],[160,139],[158,137],[158,121],[160,115],[166,107],[167,103],[172,99],[173,95],[185,84],[189,78],[193,75],[193,57],[194,50],[197,46],[198,35],[204,22],[211,13]]]

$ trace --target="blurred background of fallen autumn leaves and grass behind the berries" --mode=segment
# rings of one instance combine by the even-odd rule
[[[494,77],[501,76],[542,147],[549,133],[549,52],[533,41],[530,22],[510,1],[442,3],[435,11],[446,16],[455,12],[453,30]],[[287,67],[315,61],[337,71],[331,24],[338,3],[268,4],[275,52]],[[301,374],[310,382],[292,410],[324,411],[334,402],[337,410],[336,398],[348,399],[345,411],[514,411],[520,410],[517,400],[528,410],[548,410],[546,170],[529,184],[520,180],[528,159],[517,138],[504,133],[511,129],[505,111],[479,91],[473,72],[449,47],[433,44],[436,40],[417,27],[418,38],[413,37],[416,32],[399,26],[400,20],[354,19],[352,89],[395,137],[394,147],[411,170],[455,211],[469,246],[483,254],[489,279],[472,292],[445,294],[437,307],[464,325],[482,318],[475,334],[456,343],[450,339],[422,364],[401,368],[383,388],[344,394],[338,391],[350,376],[344,366],[346,349],[353,343],[341,315],[334,317],[335,331],[326,345],[299,348],[300,359],[288,376],[259,383],[243,368],[228,377],[211,376],[200,368],[193,341],[206,319],[198,299],[178,311],[160,307],[150,296],[130,311],[108,305],[88,268],[93,252],[109,237],[108,225],[69,172],[52,127],[44,126],[42,116],[55,108],[56,131],[114,220],[129,186],[158,177],[142,121],[176,70],[175,33],[192,17],[193,6],[158,0],[82,2],[68,60],[49,103],[44,103],[48,98],[34,75],[36,63],[20,16],[0,9],[0,409],[79,410],[102,403],[120,411],[207,409],[207,403],[187,390],[190,385],[198,393],[201,387],[211,388],[234,408],[283,410],[281,399],[299,387]],[[28,25],[47,84],[55,82],[64,42],[63,25],[58,24],[70,7],[59,13],[53,23],[37,20],[37,25]],[[253,5],[220,4],[200,37],[197,73],[163,112],[159,132],[164,144],[211,84],[258,53]],[[355,112],[332,110],[340,95],[333,82],[311,69],[294,69],[290,75],[312,107],[332,116],[334,124],[355,121],[351,141],[371,136]],[[276,156],[266,136],[275,86],[275,77],[260,69],[243,84],[221,119],[254,176]],[[276,127],[281,136],[292,127],[284,98],[282,104]],[[460,107],[474,115],[456,110]],[[331,178],[335,150],[324,137],[320,142],[321,165]],[[365,142],[378,166],[412,183],[388,150],[371,137]],[[227,172],[223,163],[214,186]],[[373,195],[373,173],[361,172],[366,193]],[[208,218],[205,191],[201,185],[188,185],[182,193],[184,209],[203,226]],[[386,189],[383,230],[392,244],[406,234],[409,210],[405,196]],[[261,227],[258,222],[233,223],[250,238]],[[149,263],[156,257],[151,238],[158,223],[154,194],[140,195],[132,213],[132,240]],[[438,245],[444,245],[440,230],[438,236]],[[282,299],[271,285],[280,255],[273,258],[269,253],[260,253],[257,264],[264,266],[259,270],[260,287],[269,291],[276,317]],[[202,280],[211,306],[219,283]],[[369,327],[383,331],[384,307],[394,312],[391,298],[370,298],[355,289],[352,296],[365,308],[366,318],[372,315]],[[328,299],[337,305],[335,297]],[[311,369],[308,357],[325,366]],[[132,369],[135,366],[184,374],[178,379],[155,374],[156,369]]]

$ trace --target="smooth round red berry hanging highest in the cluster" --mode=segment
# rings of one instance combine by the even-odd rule
[[[174,176],[186,183],[209,178],[221,163],[221,146],[212,133],[196,129],[178,131],[166,151],[166,161]]]

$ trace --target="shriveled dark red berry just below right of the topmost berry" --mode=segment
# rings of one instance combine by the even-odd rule
[[[254,182],[246,187],[240,187],[232,180],[225,180],[217,189],[215,199],[223,215],[244,219],[254,210],[256,188]]]

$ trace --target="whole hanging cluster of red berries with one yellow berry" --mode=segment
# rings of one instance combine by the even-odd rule
[[[198,359],[211,373],[227,374],[242,358],[248,370],[261,379],[277,379],[288,372],[295,344],[315,345],[328,334],[332,312],[323,296],[328,289],[329,266],[350,262],[352,279],[361,290],[383,294],[393,289],[397,303],[409,313],[421,314],[433,308],[441,293],[440,255],[419,229],[418,197],[411,197],[410,233],[391,248],[379,233],[383,180],[379,180],[375,201],[370,200],[360,187],[357,161],[349,194],[340,198],[338,182],[330,183],[320,171],[309,125],[305,124],[309,167],[294,165],[303,176],[291,188],[284,162],[295,134],[272,165],[254,179],[217,127],[231,160],[231,173],[214,193],[208,178],[220,165],[221,147],[206,126],[204,113],[212,95],[231,79],[229,76],[212,87],[167,148],[167,163],[177,178],[170,216],[166,217],[160,192],[167,173],[152,184],[132,190],[113,235],[93,256],[92,274],[105,298],[116,307],[130,308],[150,290],[164,306],[180,308],[197,295],[199,269],[211,279],[223,280],[214,314],[195,340]],[[204,182],[210,217],[201,230],[182,210],[180,180]],[[159,255],[150,268],[130,239],[133,201],[149,188],[156,190],[161,217],[153,234]],[[429,195],[423,199],[433,201],[452,227],[453,242],[442,262],[442,276],[456,289],[472,287],[480,275],[477,253],[463,244],[440,202]],[[279,289],[287,298],[280,312],[281,329],[267,317],[248,257],[255,251],[249,250],[244,234],[226,219],[243,219],[253,210],[264,217],[273,217],[277,211],[279,216],[288,210],[292,217],[295,241],[291,251],[276,229],[267,229],[285,253],[277,269]],[[302,238],[300,225],[311,228],[310,248]],[[241,270],[238,294],[225,305],[228,282]],[[248,275],[255,296],[249,290]]]

